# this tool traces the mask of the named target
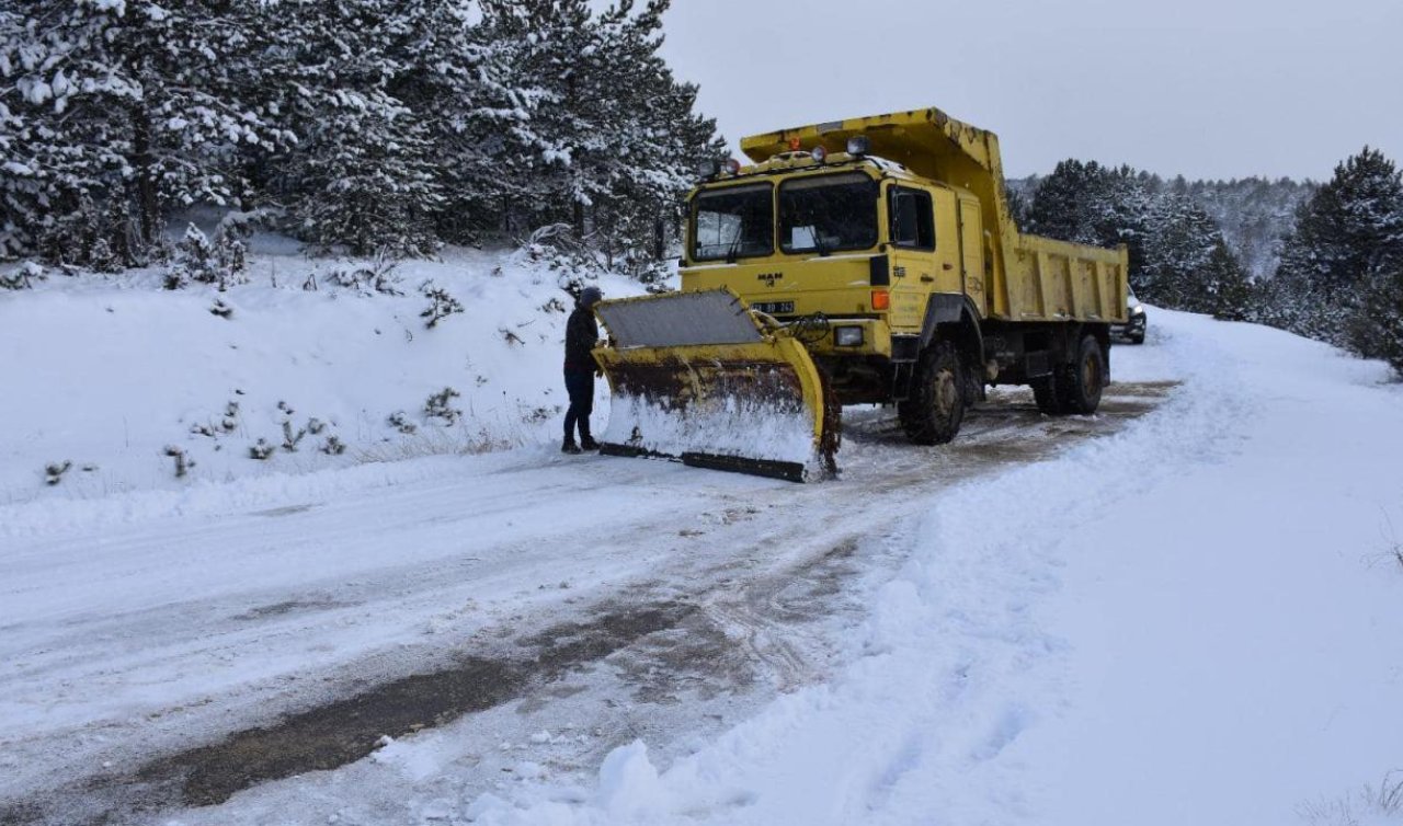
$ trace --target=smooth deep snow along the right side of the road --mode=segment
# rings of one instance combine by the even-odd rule
[[[464,818],[1285,823],[1397,769],[1403,393],[1282,332],[1156,321],[1117,377],[1174,398],[933,502],[828,684],[666,770],[634,743],[595,788]]]

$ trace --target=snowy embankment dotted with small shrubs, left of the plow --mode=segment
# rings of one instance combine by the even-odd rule
[[[0,292],[0,534],[51,527],[73,499],[175,512],[236,480],[253,495],[327,468],[558,440],[571,299],[556,272],[448,250],[400,262],[387,293],[338,286],[354,262],[261,241],[250,283],[224,293],[163,290],[154,269]],[[462,311],[429,328],[435,289]]]

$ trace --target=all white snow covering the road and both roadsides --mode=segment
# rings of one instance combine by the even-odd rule
[[[0,407],[0,812],[90,816],[94,776],[518,651],[513,634],[554,624],[539,651],[564,656],[550,641],[606,606],[609,628],[648,609],[657,634],[619,632],[657,656],[122,819],[1240,826],[1330,822],[1313,813],[1348,799],[1397,820],[1357,802],[1403,767],[1403,391],[1381,365],[1152,310],[1114,377],[1167,398],[1118,429],[1019,414],[965,447],[859,439],[840,478],[791,485],[560,456],[563,317],[525,311],[554,285],[492,266],[449,282],[473,300],[432,331],[417,293],[250,286],[230,320],[136,285],[0,296],[20,393]],[[445,384],[453,450],[387,432],[397,409],[441,428],[417,405]],[[236,387],[237,426],[192,435]],[[877,433],[890,415],[849,412]],[[309,415],[362,453],[243,456]],[[512,449],[474,454],[481,428]],[[1000,460],[1024,431],[1037,450]],[[167,440],[206,475],[170,478]],[[45,487],[63,457],[107,475]],[[697,676],[734,651],[769,677]]]

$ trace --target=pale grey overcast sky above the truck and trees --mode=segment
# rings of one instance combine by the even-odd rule
[[[1324,180],[1365,143],[1403,163],[1403,0],[673,0],[665,24],[732,147],[934,105],[1020,177]]]

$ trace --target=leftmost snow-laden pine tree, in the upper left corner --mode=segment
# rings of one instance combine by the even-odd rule
[[[22,21],[0,17],[0,74],[14,77],[0,107],[18,121],[3,149],[8,245],[65,229],[49,247],[146,245],[166,210],[230,202],[243,149],[286,137],[255,81],[262,14],[258,0],[35,0]]]

